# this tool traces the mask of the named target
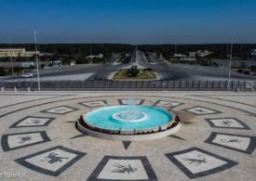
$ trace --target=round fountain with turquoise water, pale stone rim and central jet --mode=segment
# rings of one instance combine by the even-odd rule
[[[173,113],[153,106],[135,106],[133,94],[127,106],[106,106],[81,116],[77,127],[83,133],[112,140],[138,141],[168,136],[181,123]]]

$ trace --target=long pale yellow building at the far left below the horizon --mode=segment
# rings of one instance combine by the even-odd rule
[[[0,48],[0,58],[30,58],[33,57],[35,54],[35,51],[26,51],[25,48]]]

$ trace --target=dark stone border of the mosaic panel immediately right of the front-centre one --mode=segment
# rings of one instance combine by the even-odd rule
[[[187,167],[185,167],[182,164],[182,162],[179,162],[174,156],[175,155],[180,155],[180,154],[183,154],[183,153],[187,153],[187,152],[190,152],[190,151],[194,151],[194,150],[200,151],[202,153],[205,153],[205,154],[207,154],[207,155],[209,155],[211,157],[214,157],[216,159],[222,160],[222,161],[227,162],[227,163],[223,164],[222,166],[218,166],[216,168],[209,169],[207,171],[203,171],[203,172],[199,172],[199,173],[193,174],[189,169],[187,169]],[[184,150],[177,151],[177,152],[167,153],[165,155],[166,155],[166,157],[168,157],[169,161],[173,162],[190,179],[201,177],[201,176],[213,175],[213,174],[222,172],[224,170],[227,170],[227,169],[235,166],[236,164],[238,164],[238,162],[231,161],[229,159],[223,158],[223,157],[221,157],[219,155],[216,155],[214,153],[211,153],[209,151],[206,151],[206,150],[203,150],[203,149],[198,149],[198,148],[195,148],[195,147],[191,148],[191,149],[184,149]]]

